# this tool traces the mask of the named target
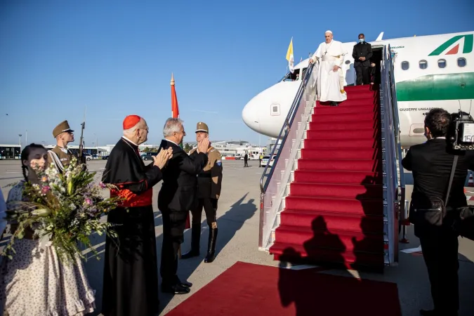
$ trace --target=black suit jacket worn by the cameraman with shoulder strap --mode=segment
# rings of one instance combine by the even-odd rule
[[[454,151],[442,138],[435,138],[410,147],[407,156],[402,160],[404,169],[413,172],[412,201],[433,197],[445,201],[454,154],[459,154],[459,158],[447,208],[467,205],[463,188],[468,169],[474,168],[474,153]]]

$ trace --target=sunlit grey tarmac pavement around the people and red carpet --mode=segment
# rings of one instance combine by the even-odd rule
[[[88,169],[98,171],[97,180],[105,167],[103,160],[88,162]],[[192,282],[192,291],[187,295],[172,296],[159,293],[162,312],[166,312],[184,301],[198,289],[215,279],[237,261],[256,263],[261,265],[278,266],[278,261],[273,261],[269,254],[258,251],[258,205],[260,187],[259,180],[263,168],[258,167],[258,161],[250,161],[249,168],[243,168],[244,162],[237,160],[223,161],[223,188],[218,204],[218,241],[216,246],[216,260],[213,263],[204,263],[207,248],[208,228],[205,215],[202,216],[201,255],[198,258],[190,258],[179,261],[178,275],[180,279]],[[0,161],[0,187],[7,197],[9,183],[21,180],[20,161]],[[161,184],[157,184],[153,190],[155,210],[155,232],[157,235],[158,262],[162,246],[162,216],[157,210],[157,195]],[[407,185],[407,197],[411,195],[412,185]],[[471,189],[471,188],[466,188]],[[474,190],[473,190],[474,191]],[[472,193],[474,195],[474,192]],[[419,240],[414,237],[412,227],[408,227],[409,244],[399,244],[400,250],[414,249],[419,246]],[[182,245],[183,253],[190,247],[191,231],[185,232],[185,243]],[[98,312],[92,315],[100,315],[102,301],[102,260],[105,237],[93,236],[93,243],[100,252],[101,258],[89,258],[86,262],[86,270],[91,286],[96,289],[96,305]],[[4,239],[0,246],[4,245]],[[89,254],[91,254],[89,252]],[[474,242],[460,238],[459,246],[459,287],[461,294],[460,316],[474,315]],[[159,267],[157,267],[159,268]],[[388,267],[383,274],[368,272],[357,272],[347,270],[329,270],[324,273],[334,275],[345,275],[346,277],[362,277],[363,279],[374,279],[397,283],[400,304],[403,316],[418,316],[420,308],[431,308],[430,287],[428,275],[422,256],[415,252],[410,254],[400,251],[399,263]],[[161,281],[161,280],[160,280]],[[275,282],[278,282],[275,279]],[[232,284],[229,284],[231,287]],[[308,286],[318,286],[308,284]],[[343,301],[343,298],[341,298]],[[230,306],[230,308],[232,308]],[[264,311],[262,311],[264,315]],[[202,311],[202,315],[207,315]]]

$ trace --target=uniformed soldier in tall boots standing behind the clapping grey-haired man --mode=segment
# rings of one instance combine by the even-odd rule
[[[199,142],[202,138],[209,137],[209,128],[205,123],[200,121],[197,123],[196,129],[196,140]],[[190,151],[190,157],[197,155],[197,148]],[[214,261],[214,253],[216,251],[216,238],[217,238],[217,223],[216,223],[216,212],[217,212],[217,201],[220,195],[220,187],[222,184],[222,161],[220,152],[213,148],[209,143],[209,149],[207,150],[208,161],[206,166],[197,176],[197,197],[198,203],[195,209],[191,210],[192,213],[192,226],[191,226],[191,250],[187,254],[183,254],[181,258],[187,259],[195,256],[199,256],[199,239],[201,237],[201,214],[204,207],[206,213],[207,225],[209,225],[209,244],[207,247],[205,263],[211,263]]]

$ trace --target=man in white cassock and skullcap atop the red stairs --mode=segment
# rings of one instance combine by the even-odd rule
[[[310,58],[310,64],[319,60],[317,96],[320,102],[331,102],[331,106],[347,100],[344,91],[343,62],[345,51],[340,41],[334,41],[331,31],[324,33],[326,41],[320,44]]]

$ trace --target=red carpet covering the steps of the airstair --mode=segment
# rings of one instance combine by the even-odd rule
[[[275,244],[314,263],[383,268],[383,185],[378,87],[345,87],[348,100],[321,105],[306,132]],[[288,251],[287,251],[288,252]]]

